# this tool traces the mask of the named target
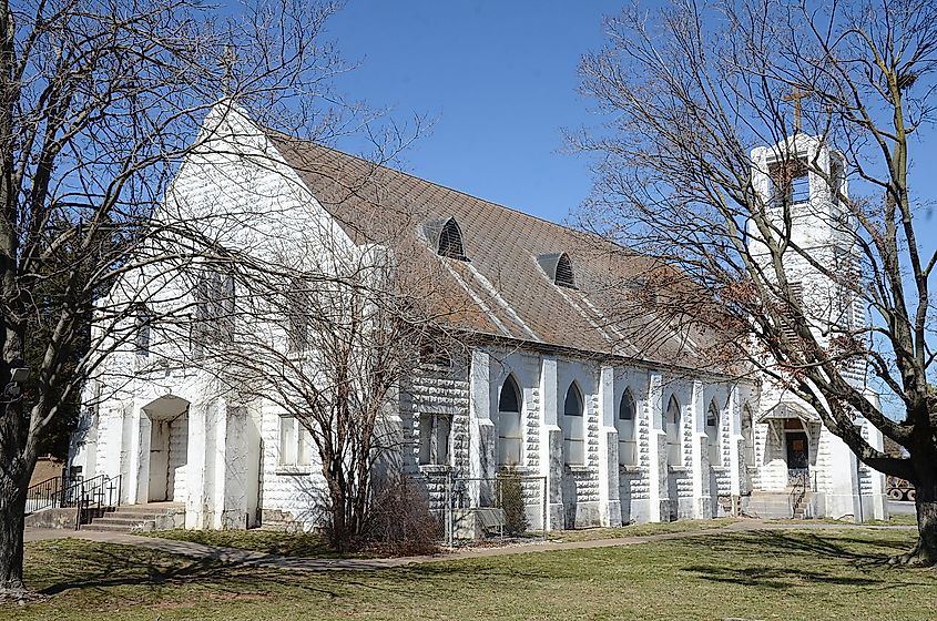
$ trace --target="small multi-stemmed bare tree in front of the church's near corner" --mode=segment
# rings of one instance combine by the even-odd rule
[[[379,183],[366,174],[348,189]],[[291,455],[305,442],[282,430],[289,446],[281,459],[313,467],[322,495],[309,509],[322,512],[315,518],[338,550],[367,542],[376,480],[413,459],[400,416],[427,352],[448,358],[460,342],[447,327],[458,305],[437,302],[446,281],[411,234],[417,221],[396,214],[388,226],[357,215],[349,230],[368,241],[310,224],[274,261],[232,264],[232,312],[214,314],[227,322],[224,337],[210,339],[200,363],[231,398],[273,407],[307,434],[314,455]]]

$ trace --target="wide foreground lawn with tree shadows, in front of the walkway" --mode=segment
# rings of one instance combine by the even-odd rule
[[[905,530],[730,532],[641,546],[288,573],[139,548],[27,548],[49,601],[2,619],[894,619],[934,618],[937,571],[894,570]]]

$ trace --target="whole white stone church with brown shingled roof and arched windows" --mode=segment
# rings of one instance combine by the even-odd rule
[[[653,296],[645,257],[267,131],[231,106],[220,104],[205,128],[211,138],[180,167],[166,213],[237,212],[230,238],[257,252],[338,247],[350,256],[377,243],[441,275],[438,304],[460,309],[466,345],[438,356],[415,352],[418,373],[389,415],[403,438],[399,468],[431,503],[444,502],[435,482],[442,475],[485,480],[510,467],[543,481],[526,498],[537,529],[726,515],[886,517],[884,477],[805,403],[757,377],[721,371],[707,359],[712,335],[641,312]],[[842,170],[816,139],[783,147]],[[752,153],[766,200],[792,192],[811,212],[837,208],[807,172],[785,187],[773,183],[777,152]],[[825,222],[805,222],[803,235],[831,256],[848,254]],[[388,228],[401,232],[399,246],[378,232]],[[838,295],[808,267],[802,274],[804,299]],[[126,287],[156,277],[165,275],[129,276]],[[843,312],[865,320],[860,308]],[[159,329],[147,325],[147,339]],[[218,390],[189,363],[194,340],[139,340],[115,347],[89,384],[72,470],[120,476],[122,505],[176,502],[190,529],[315,527],[310,499],[324,483],[308,431],[272,401]],[[865,381],[864,369],[854,376]],[[880,448],[878,431],[856,423]]]

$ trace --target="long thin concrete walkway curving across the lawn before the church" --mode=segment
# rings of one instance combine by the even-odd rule
[[[238,548],[226,548],[222,546],[206,546],[192,541],[176,541],[173,539],[161,539],[157,537],[140,537],[122,532],[99,532],[92,530],[53,530],[27,528],[26,541],[42,541],[48,539],[85,539],[89,541],[101,541],[105,543],[120,543],[124,546],[136,546],[149,550],[159,550],[172,554],[181,554],[203,560],[212,560],[225,563],[246,564],[252,567],[264,567],[271,569],[284,569],[293,571],[328,571],[328,570],[377,570],[404,567],[408,564],[450,561],[459,559],[480,559],[489,557],[502,557],[507,554],[524,554],[531,552],[549,552],[559,550],[585,550],[592,548],[614,548],[619,546],[638,546],[652,541],[664,541],[670,539],[688,539],[691,537],[705,537],[710,535],[724,535],[726,532],[750,532],[764,530],[844,530],[844,529],[876,529],[876,530],[917,530],[911,526],[862,526],[852,523],[828,523],[828,522],[804,522],[804,523],[773,523],[762,520],[740,520],[730,525],[705,530],[690,530],[685,532],[665,532],[660,535],[648,535],[642,537],[618,537],[612,539],[593,539],[590,541],[543,541],[537,543],[518,543],[513,546],[500,546],[492,548],[469,548],[444,552],[440,554],[422,557],[397,557],[390,559],[307,559],[299,557],[281,557],[242,550]]]

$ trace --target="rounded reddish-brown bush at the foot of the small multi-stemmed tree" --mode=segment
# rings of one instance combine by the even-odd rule
[[[439,551],[442,529],[429,511],[426,492],[406,476],[395,476],[376,490],[365,544],[393,556]]]

